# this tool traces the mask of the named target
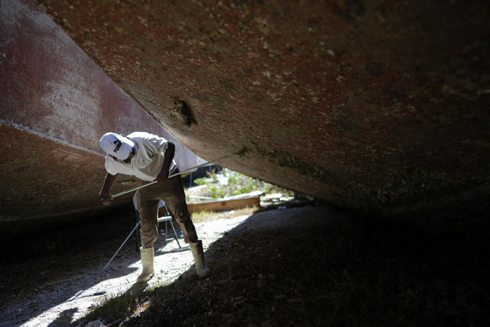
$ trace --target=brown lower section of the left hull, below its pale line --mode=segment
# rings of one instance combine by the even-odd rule
[[[0,135],[5,141],[2,220],[35,219],[100,206],[97,195],[105,176],[100,155],[3,123]]]

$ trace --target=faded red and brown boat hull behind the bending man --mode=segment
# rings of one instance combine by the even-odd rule
[[[2,1],[0,30],[0,221],[100,209],[106,173],[98,141],[107,131],[175,142],[36,4]],[[181,167],[199,159],[177,144]],[[136,184],[122,176],[114,192]]]

